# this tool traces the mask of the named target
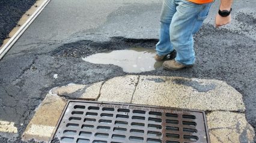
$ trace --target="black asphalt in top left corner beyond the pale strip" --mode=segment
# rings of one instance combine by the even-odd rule
[[[8,34],[17,25],[22,15],[37,0],[1,0],[0,1],[0,46]]]

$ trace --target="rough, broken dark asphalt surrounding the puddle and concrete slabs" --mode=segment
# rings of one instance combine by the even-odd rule
[[[2,94],[5,94],[7,98],[15,95],[15,100],[22,101],[22,104],[8,105],[13,106],[13,111],[0,108],[3,109],[0,112],[0,118],[16,121],[21,135],[34,114],[34,109],[53,87],[64,86],[69,83],[91,84],[128,74],[118,66],[92,64],[84,62],[82,57],[106,50],[123,50],[134,46],[154,48],[156,42],[156,39],[115,37],[105,42],[87,40],[72,42],[55,47],[47,53],[31,50],[22,54],[7,54],[0,61],[0,73],[5,73],[0,75],[0,79],[4,81],[0,83],[0,87],[16,90]],[[204,25],[203,29],[195,35],[197,62],[193,68],[180,71],[165,71],[160,68],[155,71],[142,72],[141,75],[226,81],[242,93],[246,105],[246,119],[253,127],[256,127],[255,45],[256,41],[248,36],[227,29],[216,29],[211,25]],[[53,78],[54,74],[58,74],[58,78]],[[8,79],[7,77],[11,78]],[[0,103],[1,106],[7,107],[5,106],[7,103],[2,101]],[[26,109],[26,111],[18,113],[20,108]],[[6,114],[9,116],[6,117]],[[17,118],[20,119],[17,120]],[[20,123],[24,125],[20,126]]]

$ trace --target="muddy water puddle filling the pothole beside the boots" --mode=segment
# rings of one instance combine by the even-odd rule
[[[126,50],[106,51],[82,58],[90,63],[112,64],[123,68],[124,72],[145,72],[160,68],[163,62],[156,62],[156,51],[149,48],[134,47]]]

